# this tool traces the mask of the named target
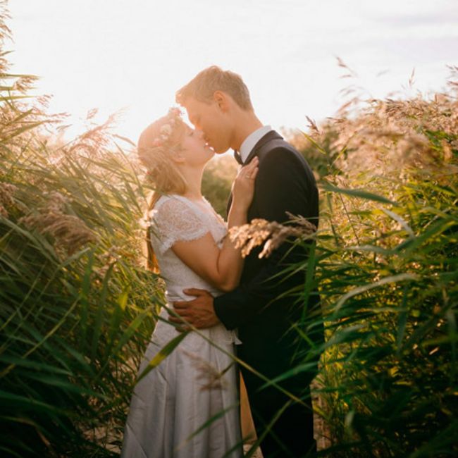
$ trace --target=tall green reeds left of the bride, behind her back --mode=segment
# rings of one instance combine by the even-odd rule
[[[115,456],[163,300],[141,265],[144,190],[107,126],[54,145],[32,78],[2,59],[0,454]]]

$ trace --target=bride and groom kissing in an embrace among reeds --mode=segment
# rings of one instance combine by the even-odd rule
[[[285,294],[304,283],[304,272],[277,275],[306,255],[283,243],[267,259],[259,259],[256,249],[242,259],[226,234],[254,218],[285,223],[287,212],[318,226],[314,175],[295,148],[256,117],[239,75],[206,68],[176,98],[195,129],[172,109],[138,142],[155,189],[148,261],[166,282],[168,302],[140,373],[177,332],[192,330],[135,386],[122,457],[242,457],[240,413],[246,418],[247,410],[264,458],[312,457],[309,384],[318,355],[307,359],[307,371],[266,383],[291,371],[323,340],[321,327],[311,331],[304,323],[319,309],[318,294],[308,304]],[[202,197],[201,182],[213,154],[229,148],[241,167],[225,222]]]

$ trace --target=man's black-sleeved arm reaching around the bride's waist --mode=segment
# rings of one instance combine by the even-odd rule
[[[317,206],[317,191],[313,175],[307,176],[302,162],[284,148],[269,151],[259,165],[256,178],[256,206],[261,218],[284,223],[287,211],[309,216]],[[318,209],[316,208],[316,213]],[[304,213],[309,213],[309,215]],[[290,250],[290,252],[288,252]],[[264,261],[256,276],[232,292],[216,297],[213,302],[216,316],[228,329],[237,328],[251,320],[278,295],[285,292],[285,283],[273,278],[285,268],[285,264],[304,259],[301,247],[291,249],[284,243]],[[300,283],[303,273],[291,280]]]

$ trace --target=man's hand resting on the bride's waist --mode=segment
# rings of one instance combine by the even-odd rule
[[[182,325],[177,328],[178,330],[211,328],[220,322],[213,308],[213,296],[208,291],[190,288],[183,292],[188,296],[194,296],[195,299],[173,302],[173,309],[180,317],[169,315],[168,319],[172,323]]]

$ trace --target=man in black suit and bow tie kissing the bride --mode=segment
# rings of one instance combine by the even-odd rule
[[[242,166],[254,156],[259,158],[248,221],[264,218],[285,223],[290,212],[318,226],[318,190],[309,165],[277,132],[262,125],[239,75],[216,66],[206,68],[177,92],[176,99],[216,153],[233,148]],[[238,328],[242,345],[237,346],[237,357],[269,379],[305,362],[306,370],[290,374],[277,386],[266,387],[262,378],[241,369],[258,437],[268,431],[261,442],[264,457],[313,456],[309,384],[316,375],[319,355],[314,347],[323,342],[323,330],[321,325],[309,329],[307,319],[318,313],[318,293],[312,292],[304,304],[304,271],[273,278],[287,264],[304,264],[303,248],[291,249],[284,243],[268,259],[259,259],[259,252],[254,249],[247,256],[240,286],[232,292],[213,298],[204,290],[186,290],[196,299],[175,302],[174,307],[197,328],[219,322],[228,329]],[[296,295],[285,295],[292,288]]]

